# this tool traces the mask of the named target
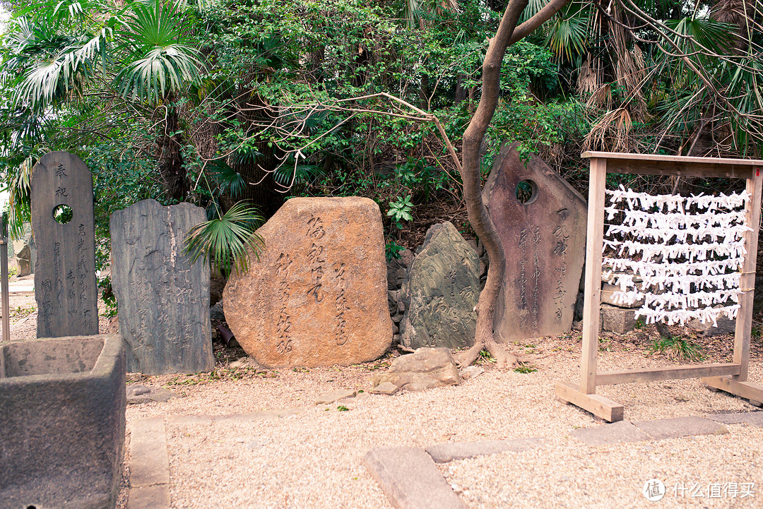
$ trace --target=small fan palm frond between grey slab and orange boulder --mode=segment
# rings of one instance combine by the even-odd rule
[[[211,262],[223,274],[230,274],[233,269],[246,273],[249,269],[247,251],[252,249],[259,259],[265,245],[255,232],[260,222],[262,216],[252,206],[236,203],[222,216],[194,226],[185,239],[186,251],[192,263],[204,255],[204,261]]]

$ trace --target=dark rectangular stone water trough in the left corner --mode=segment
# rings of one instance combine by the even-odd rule
[[[18,341],[0,358],[0,507],[114,507],[124,461],[121,338]]]

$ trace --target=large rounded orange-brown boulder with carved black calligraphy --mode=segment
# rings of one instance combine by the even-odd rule
[[[381,213],[372,200],[292,198],[257,230],[246,275],[233,273],[225,317],[265,367],[377,359],[392,340]]]

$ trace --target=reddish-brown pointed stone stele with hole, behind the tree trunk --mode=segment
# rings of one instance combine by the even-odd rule
[[[516,147],[501,149],[482,192],[506,253],[495,321],[500,341],[569,331],[585,258],[585,200]]]

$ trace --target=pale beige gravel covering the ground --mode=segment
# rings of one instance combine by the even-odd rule
[[[34,296],[27,299],[34,306]],[[17,305],[12,301],[11,310]],[[11,328],[14,338],[34,336],[30,317],[13,319],[20,323]],[[605,337],[600,370],[671,363],[644,355],[650,334]],[[729,338],[712,345],[717,353],[705,361],[726,360]],[[570,432],[602,424],[558,402],[553,392],[556,381],[578,377],[576,338],[542,338],[514,348],[538,355],[538,370],[502,372],[485,363],[484,374],[460,386],[394,396],[363,392],[332,405],[314,401],[334,389],[367,391],[372,374],[390,360],[311,370],[262,370],[251,364],[233,369],[219,360],[212,374],[132,375],[133,382],[163,386],[182,397],[127,408],[127,462],[132,423],[159,415],[166,422],[173,508],[372,509],[391,507],[361,465],[374,447],[540,437],[542,445],[535,449],[440,469],[468,507],[763,507],[763,429],[732,424],[729,434],[589,447]],[[754,352],[750,379],[763,383],[760,347]],[[743,399],[710,392],[697,379],[605,386],[598,392],[623,403],[629,421],[755,409]],[[177,424],[170,419],[297,407],[301,410],[286,418],[259,421]],[[658,503],[641,495],[652,478],[668,488]],[[755,482],[755,497],[707,496],[709,483],[729,482]],[[705,496],[674,494],[677,485],[695,484],[704,487]],[[123,489],[119,507],[125,507],[125,495]]]

